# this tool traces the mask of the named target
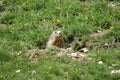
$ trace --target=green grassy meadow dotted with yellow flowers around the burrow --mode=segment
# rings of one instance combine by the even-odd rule
[[[24,54],[15,51],[38,49],[45,44],[56,25],[62,26],[67,47],[69,37],[82,36],[97,30],[110,32],[98,43],[120,42],[120,2],[107,0],[1,0],[0,1],[0,80],[119,80],[120,48],[92,49],[90,62],[72,60],[67,56],[43,55],[30,63]],[[103,61],[102,65],[98,62]],[[117,66],[109,69],[112,64]],[[20,70],[19,73],[16,73]],[[36,74],[32,74],[35,70]]]

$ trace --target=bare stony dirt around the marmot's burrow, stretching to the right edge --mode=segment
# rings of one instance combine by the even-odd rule
[[[85,42],[82,42],[82,37],[76,37],[74,38],[74,42],[73,44],[69,43],[72,45],[72,47],[69,48],[59,48],[59,50],[55,51],[54,50],[47,50],[45,49],[45,43],[43,44],[42,42],[39,43],[39,47],[40,49],[33,49],[33,50],[27,50],[25,51],[26,56],[28,56],[32,61],[37,61],[38,57],[41,55],[44,55],[45,53],[52,53],[52,51],[55,54],[56,57],[60,57],[60,56],[67,56],[67,57],[71,57],[73,59],[78,59],[78,60],[90,60],[92,58],[90,58],[86,52],[89,51],[89,49],[92,48],[96,48],[96,49],[100,49],[100,48],[109,48],[109,47],[119,47],[120,43],[119,42],[111,42],[111,43],[105,43],[105,44],[96,44],[94,42],[94,40],[97,40],[101,37],[103,37],[104,35],[106,35],[107,33],[109,33],[109,29],[103,30],[103,31],[97,31],[94,33],[91,33],[89,35],[88,40],[86,40]],[[71,37],[70,37],[71,38]],[[73,37],[72,37],[73,38]],[[77,51],[75,51],[77,49]]]

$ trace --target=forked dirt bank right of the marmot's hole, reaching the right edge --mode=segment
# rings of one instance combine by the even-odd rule
[[[100,49],[100,48],[116,48],[120,46],[119,41],[113,41],[111,43],[104,43],[104,44],[99,44],[95,43],[94,40],[97,40],[104,35],[109,33],[109,29],[105,29],[103,31],[98,31],[90,34],[89,39],[86,41],[82,42],[82,39],[80,37],[77,37],[74,39],[73,44],[72,44],[72,49],[80,51],[82,48],[87,48],[87,49]]]

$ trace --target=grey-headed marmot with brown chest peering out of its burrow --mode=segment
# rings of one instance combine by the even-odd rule
[[[61,34],[61,31],[53,31],[48,42],[46,45],[46,48],[50,48],[51,46],[56,46],[59,48],[63,48],[64,47],[64,39],[63,36]]]

